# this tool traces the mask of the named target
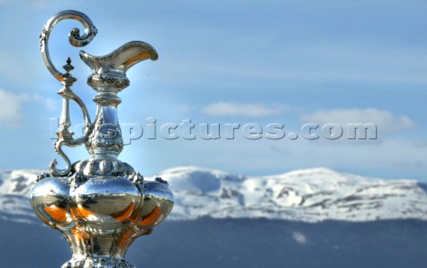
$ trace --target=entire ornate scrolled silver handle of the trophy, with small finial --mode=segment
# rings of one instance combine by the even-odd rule
[[[71,45],[76,47],[85,46],[88,43],[91,43],[93,37],[97,34],[97,29],[93,25],[92,20],[90,20],[84,13],[77,11],[64,11],[55,14],[47,23],[44,25],[43,32],[40,35],[40,51],[42,53],[42,58],[44,60],[44,65],[47,67],[49,72],[55,77],[64,87],[58,92],[62,97],[62,114],[60,116],[60,129],[57,132],[58,140],[55,142],[54,149],[60,154],[64,162],[66,163],[65,169],[57,169],[57,161],[53,160],[49,165],[49,170],[52,176],[67,176],[71,171],[71,162],[69,161],[68,156],[62,151],[62,146],[76,147],[85,143],[85,140],[88,138],[89,134],[93,130],[93,124],[87,112],[87,108],[83,101],[73,92],[70,87],[77,81],[69,71],[74,69],[71,65],[71,60],[68,58],[67,64],[63,67],[66,70],[66,73],[60,73],[56,67],[53,66],[50,54],[48,40],[51,35],[52,28],[60,22],[60,20],[78,20],[85,27],[85,34],[80,35],[80,30],[78,28],[73,28],[68,34],[68,41]],[[71,126],[71,121],[69,119],[69,99],[74,100],[77,105],[82,110],[82,113],[85,118],[85,132],[81,138],[73,138],[73,132],[68,130]]]

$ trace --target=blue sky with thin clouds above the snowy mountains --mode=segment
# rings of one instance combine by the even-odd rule
[[[46,169],[57,157],[50,118],[60,114],[60,84],[44,67],[38,35],[54,13],[74,9],[99,30],[84,51],[103,55],[141,40],[159,54],[128,71],[120,122],[144,127],[151,116],[160,127],[190,119],[197,137],[199,123],[281,123],[300,134],[142,136],[121,154],[142,174],[179,165],[246,175],[326,167],[427,181],[427,3],[355,2],[0,0],[0,169]],[[61,21],[50,48],[57,66],[73,59],[74,91],[93,118],[90,70],[67,38],[78,26]],[[77,107],[71,114],[82,122]],[[378,138],[308,140],[300,131],[308,122],[375,123]],[[73,161],[87,157],[83,147],[67,152]]]

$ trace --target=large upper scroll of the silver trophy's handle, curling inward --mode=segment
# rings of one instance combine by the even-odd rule
[[[56,67],[53,66],[51,57],[49,55],[48,40],[51,35],[52,28],[60,22],[60,20],[78,20],[85,27],[85,35],[80,35],[80,30],[78,28],[73,28],[68,34],[69,43],[73,46],[81,47],[85,46],[88,43],[91,43],[93,37],[98,33],[97,29],[93,25],[92,20],[90,20],[84,13],[77,11],[64,11],[55,14],[50,20],[47,21],[44,25],[43,33],[40,35],[40,51],[42,52],[42,57],[45,66],[51,72],[51,74],[58,79],[60,82],[64,80],[63,74],[58,71]]]

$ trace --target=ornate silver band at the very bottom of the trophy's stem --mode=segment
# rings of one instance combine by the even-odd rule
[[[135,265],[129,264],[125,260],[115,258],[101,257],[82,257],[71,258],[67,263],[62,264],[60,268],[136,268]]]

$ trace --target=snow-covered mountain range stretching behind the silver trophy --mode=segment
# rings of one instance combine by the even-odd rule
[[[28,195],[43,170],[0,171],[0,217],[35,218]],[[179,167],[153,177],[169,182],[175,204],[171,220],[270,218],[324,220],[427,220],[427,194],[414,180],[384,180],[300,169],[276,176],[245,177],[214,169]]]

